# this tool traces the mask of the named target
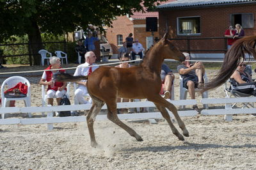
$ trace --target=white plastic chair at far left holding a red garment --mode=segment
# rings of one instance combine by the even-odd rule
[[[10,89],[16,86],[19,82],[22,82],[28,86],[28,93],[26,97],[5,97],[4,89]],[[24,100],[24,104],[26,107],[31,106],[31,97],[30,97],[30,83],[28,79],[21,77],[21,76],[13,76],[6,79],[1,87],[1,96],[2,96],[2,107],[6,107],[8,101],[11,100]],[[28,113],[29,118],[31,118],[31,113]],[[4,119],[4,113],[2,113],[2,119]]]

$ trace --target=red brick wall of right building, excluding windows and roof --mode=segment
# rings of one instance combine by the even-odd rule
[[[172,10],[159,12],[159,33],[163,36],[168,20],[170,38],[204,38],[221,37],[231,23],[230,14],[234,13],[254,13],[256,19],[256,5],[244,4],[239,6],[218,6],[211,8],[194,8],[186,10]],[[166,17],[167,16],[167,17]],[[201,35],[200,36],[177,36],[177,17],[200,16]],[[239,23],[241,24],[241,23]],[[244,29],[245,35],[256,35],[256,23],[253,28]],[[187,49],[187,42],[175,40],[176,45],[182,50]],[[224,40],[191,40],[191,49],[224,49]]]

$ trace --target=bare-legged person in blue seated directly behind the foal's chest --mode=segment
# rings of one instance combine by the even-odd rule
[[[165,99],[172,98],[172,84],[174,80],[174,74],[172,73],[172,70],[166,65],[162,64],[161,68],[161,79],[163,84],[163,94]]]

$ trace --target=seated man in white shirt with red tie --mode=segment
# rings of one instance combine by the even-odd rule
[[[90,66],[90,65],[95,65],[94,63],[95,63],[96,56],[94,52],[92,51],[86,52],[86,54],[84,55],[84,58],[85,58],[85,63],[77,66],[74,76],[90,75],[90,73],[92,73],[94,70],[99,68],[99,66]],[[88,91],[86,88],[86,80],[82,80],[76,83],[79,84],[79,86],[75,91],[75,98],[77,99],[79,104],[87,104],[88,102],[84,99],[84,96],[88,94]]]

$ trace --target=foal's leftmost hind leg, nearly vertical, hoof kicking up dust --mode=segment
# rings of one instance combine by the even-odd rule
[[[91,146],[96,147],[97,142],[95,140],[95,134],[94,134],[94,130],[93,130],[93,123],[95,121],[95,117],[100,112],[101,107],[104,105],[104,102],[102,100],[100,100],[99,98],[96,98],[96,97],[92,97],[92,100],[93,100],[93,104],[92,104],[92,107],[91,107],[90,111],[88,112],[88,114],[86,116],[86,120],[87,120],[87,126],[88,126],[88,129],[89,129],[90,138],[91,138]]]

